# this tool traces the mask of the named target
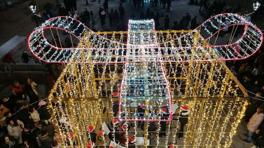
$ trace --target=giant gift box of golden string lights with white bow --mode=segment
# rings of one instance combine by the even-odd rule
[[[221,38],[226,30],[231,36]],[[65,37],[70,48],[62,48]],[[194,30],[156,31],[153,20],[130,20],[128,31],[96,33],[55,17],[28,42],[41,60],[66,63],[48,97],[63,147],[86,147],[88,126],[107,132],[114,119],[131,126],[121,132],[137,137],[137,147],[229,147],[249,97],[225,61],[257,52],[262,33],[236,14],[213,16]],[[189,120],[177,141],[183,106]]]

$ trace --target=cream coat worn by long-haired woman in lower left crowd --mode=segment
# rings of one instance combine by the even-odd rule
[[[18,123],[18,126],[12,126],[11,124],[8,124],[7,130],[8,130],[8,135],[13,136],[18,140],[18,143],[22,143],[22,131],[24,128],[24,123],[20,120],[16,120]]]

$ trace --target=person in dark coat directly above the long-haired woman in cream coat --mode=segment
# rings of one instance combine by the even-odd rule
[[[22,103],[17,103],[18,106],[18,110],[20,110],[19,112],[17,112],[17,116],[19,118],[19,120],[21,120],[25,125],[33,125],[33,120],[31,119],[31,116],[28,112],[28,110],[26,108],[24,108],[24,105]],[[32,126],[33,127],[33,126]]]

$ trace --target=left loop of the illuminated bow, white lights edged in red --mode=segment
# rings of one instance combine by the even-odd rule
[[[69,34],[70,41],[79,44],[70,42],[71,47],[64,48],[64,39],[61,39],[59,31]],[[52,42],[46,35],[52,36]],[[104,36],[91,31],[76,19],[60,16],[36,28],[29,36],[28,45],[32,53],[45,62],[111,62],[112,56],[122,57],[119,55],[122,55],[125,44]]]

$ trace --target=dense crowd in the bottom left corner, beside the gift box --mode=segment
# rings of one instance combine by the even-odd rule
[[[12,93],[0,101],[0,135],[3,148],[48,148],[42,130],[51,123],[46,101],[38,97],[38,85],[30,78],[22,87],[18,81],[11,85]],[[52,126],[52,125],[51,125]],[[53,127],[53,126],[52,126]],[[44,145],[48,147],[44,147]]]

